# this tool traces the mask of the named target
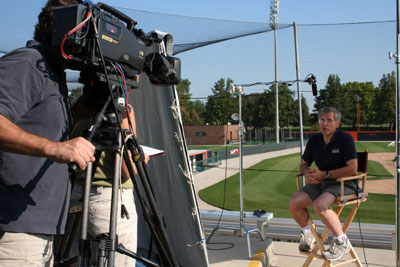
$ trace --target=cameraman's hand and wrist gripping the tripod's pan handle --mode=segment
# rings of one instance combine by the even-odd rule
[[[94,162],[95,147],[83,137],[65,142],[55,142],[48,148],[50,158],[58,163],[76,163],[84,170],[89,162]]]

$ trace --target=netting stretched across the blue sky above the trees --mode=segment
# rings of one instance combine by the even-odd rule
[[[220,78],[229,77],[239,84],[275,80],[274,34],[268,23],[120,10],[145,31],[159,29],[173,34],[174,53],[182,59],[182,76],[190,80],[194,99],[206,99]],[[279,80],[294,80],[293,24],[279,24],[278,28]],[[319,89],[325,87],[330,74],[337,74],[342,83],[371,81],[377,86],[383,74],[394,71],[388,52],[395,51],[395,21],[299,24],[297,28],[300,79],[313,73]],[[306,84],[300,88],[312,110],[311,88]],[[256,86],[244,93],[265,89]]]

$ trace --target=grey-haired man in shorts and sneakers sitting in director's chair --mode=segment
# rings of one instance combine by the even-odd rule
[[[289,201],[293,219],[301,227],[300,251],[309,251],[315,242],[307,225],[308,206],[313,206],[321,221],[334,235],[334,242],[323,257],[330,261],[340,259],[350,250],[350,242],[342,231],[339,217],[331,209],[340,195],[339,177],[357,175],[357,153],[351,135],[338,130],[341,113],[326,107],[318,112],[320,133],[310,137],[300,164],[307,184],[297,191]],[[315,162],[318,168],[311,167]],[[354,181],[345,182],[345,194],[356,189]]]

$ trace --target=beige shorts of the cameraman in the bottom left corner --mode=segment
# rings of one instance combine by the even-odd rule
[[[0,266],[53,266],[53,236],[0,232]]]

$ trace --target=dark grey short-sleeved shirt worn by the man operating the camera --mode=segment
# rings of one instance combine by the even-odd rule
[[[0,114],[53,141],[69,134],[65,73],[36,41],[0,59]],[[68,166],[0,151],[0,231],[60,234],[68,213]]]

